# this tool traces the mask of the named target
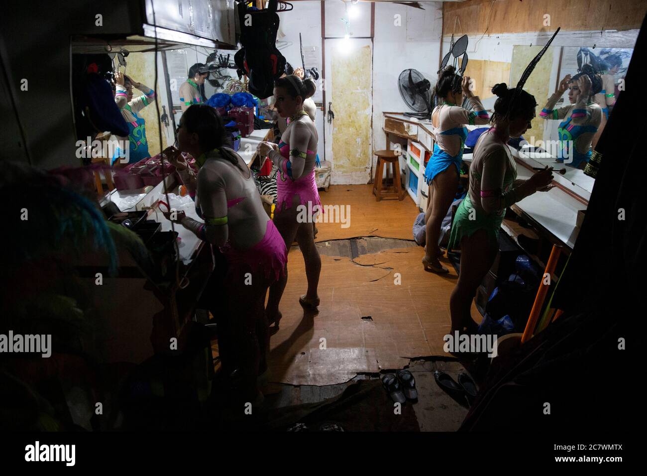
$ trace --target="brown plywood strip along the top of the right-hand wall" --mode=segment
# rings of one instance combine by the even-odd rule
[[[490,12],[491,9],[491,12]],[[640,28],[647,0],[471,0],[443,3],[443,35]],[[489,18],[488,18],[489,14]],[[551,24],[544,25],[544,14]]]

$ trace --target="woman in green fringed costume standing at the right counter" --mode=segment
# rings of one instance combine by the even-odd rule
[[[527,180],[517,180],[517,168],[507,142],[531,128],[536,102],[523,89],[514,102],[516,89],[497,84],[492,93],[494,127],[483,133],[474,147],[470,164],[470,188],[454,216],[449,249],[461,249],[461,272],[450,298],[452,334],[476,334],[470,308],[476,289],[494,263],[505,209],[538,190],[549,190],[552,168],[545,168]]]

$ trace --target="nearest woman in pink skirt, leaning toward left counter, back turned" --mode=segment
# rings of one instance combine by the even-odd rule
[[[265,295],[283,273],[287,249],[243,159],[225,144],[226,131],[214,108],[193,105],[182,114],[179,150],[164,154],[175,165],[190,194],[197,194],[196,210],[204,223],[177,212],[177,223],[198,238],[220,247],[228,263],[223,303],[236,341],[237,361],[243,370],[243,398],[258,396],[256,378],[267,368],[269,334]],[[200,169],[194,176],[180,152],[195,157]],[[170,214],[166,214],[170,219]],[[251,282],[248,280],[251,274]]]

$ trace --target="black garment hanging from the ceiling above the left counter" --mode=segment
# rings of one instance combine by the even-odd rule
[[[234,56],[234,61],[249,78],[249,92],[261,99],[272,95],[274,80],[285,73],[285,57],[276,49],[279,28],[276,8],[277,0],[270,0],[265,10],[250,10],[245,2],[238,3],[243,47]]]

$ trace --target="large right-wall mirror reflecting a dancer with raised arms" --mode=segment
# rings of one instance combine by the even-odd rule
[[[510,84],[516,84],[521,73],[523,73],[525,65],[527,65],[540,49],[540,46],[528,45],[515,45],[513,47]],[[535,161],[549,164],[555,168],[565,168],[566,172],[564,177],[590,193],[593,190],[595,179],[584,172],[587,161],[586,157],[582,157],[581,155],[578,157],[577,152],[575,152],[575,150],[578,150],[578,152],[581,151],[580,153],[584,153],[586,147],[582,148],[582,146],[578,146],[575,148],[570,146],[573,142],[565,144],[565,141],[577,141],[578,137],[582,137],[582,139],[588,141],[590,138],[591,148],[589,150],[592,153],[595,144],[606,126],[609,114],[613,111],[613,104],[619,93],[624,89],[624,76],[632,53],[633,49],[606,48],[600,47],[599,45],[596,47],[593,47],[593,45],[582,47],[549,47],[544,58],[537,65],[531,78],[529,78],[524,87],[526,91],[535,97],[538,105],[536,108],[536,117],[531,122],[532,127],[523,135],[523,138],[529,142],[529,146],[540,147],[545,150],[545,153],[534,152],[528,153],[527,156]],[[582,124],[582,128],[575,129],[575,126],[580,124],[572,124],[572,119],[569,120],[569,117],[562,118],[562,113],[552,113],[551,115],[553,117],[551,119],[545,119],[541,114],[542,109],[547,108],[547,106],[552,105],[548,108],[549,110],[556,109],[559,111],[560,108],[575,104],[578,94],[576,84],[568,84],[556,102],[553,95],[557,93],[560,82],[567,74],[573,77],[583,69],[586,71],[589,69],[596,71],[600,78],[600,82],[598,83],[600,91],[593,95],[590,101],[595,102],[602,109],[597,131],[595,131],[595,124],[586,123]],[[573,86],[575,86],[575,91],[571,93]],[[553,100],[549,104],[551,97],[553,97]],[[591,133],[593,134],[592,137]],[[556,159],[560,155],[562,155],[564,163],[557,163]],[[573,166],[578,160],[580,163]]]

